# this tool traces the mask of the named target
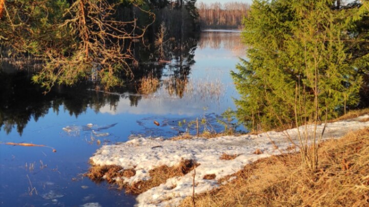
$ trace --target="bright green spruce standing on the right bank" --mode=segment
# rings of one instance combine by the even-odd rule
[[[362,43],[368,33],[357,25],[367,17],[363,6],[337,8],[335,1],[254,1],[242,33],[249,59],[232,73],[241,94],[238,119],[266,130],[336,117],[356,106],[360,72],[369,71]]]

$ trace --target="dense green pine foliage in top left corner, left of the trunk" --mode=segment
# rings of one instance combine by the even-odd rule
[[[6,10],[0,21],[1,45],[6,54],[19,56],[42,54],[65,41],[63,32],[55,27],[63,19],[67,1],[6,1]],[[1,38],[2,37],[2,38]]]

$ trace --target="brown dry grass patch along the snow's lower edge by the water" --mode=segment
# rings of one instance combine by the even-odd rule
[[[93,165],[93,164],[92,164]],[[166,165],[159,166],[155,169],[149,171],[151,179],[141,180],[134,182],[131,185],[124,182],[122,179],[115,179],[119,177],[131,177],[135,175],[135,171],[123,170],[120,166],[110,165],[110,166],[97,166],[93,165],[89,172],[85,174],[93,181],[102,181],[106,179],[108,183],[118,186],[118,189],[125,189],[126,193],[130,194],[140,194],[151,188],[159,186],[161,183],[165,183],[167,179],[175,176],[183,176],[189,173],[191,170],[199,166],[195,160],[182,159],[181,162],[173,167],[168,167]],[[104,177],[104,179],[103,179]],[[172,186],[175,188],[176,186]]]

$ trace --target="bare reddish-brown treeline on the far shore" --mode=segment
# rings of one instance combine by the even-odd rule
[[[240,29],[242,19],[248,15],[250,5],[239,2],[197,4],[202,29]]]

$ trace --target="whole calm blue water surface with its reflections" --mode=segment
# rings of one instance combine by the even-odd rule
[[[44,96],[27,72],[3,65],[0,205],[133,206],[134,196],[83,176],[89,157],[101,145],[130,137],[195,133],[191,122],[196,119],[203,120],[200,131],[223,130],[217,119],[235,109],[233,98],[238,97],[230,71],[244,57],[239,36],[234,31],[201,33],[186,64],[173,59],[155,66],[160,83],[146,95],[137,94],[137,87],[105,93],[81,83],[56,87]]]

